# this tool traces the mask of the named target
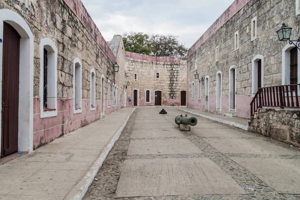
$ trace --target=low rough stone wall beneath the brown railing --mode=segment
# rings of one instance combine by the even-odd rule
[[[259,108],[251,118],[249,130],[273,139],[300,145],[300,111]]]

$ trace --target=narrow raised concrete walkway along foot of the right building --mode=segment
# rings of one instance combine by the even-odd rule
[[[248,130],[248,121],[250,119],[240,118],[240,117],[231,117],[231,116],[224,116],[222,114],[213,114],[211,112],[203,112],[201,110],[192,109],[192,108],[178,108],[179,110],[189,112],[191,114],[195,114],[198,116],[202,116],[214,121],[218,121],[221,123],[225,123],[227,125],[232,125],[244,130]]]

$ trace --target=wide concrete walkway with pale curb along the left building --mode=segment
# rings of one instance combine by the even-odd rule
[[[81,199],[125,127],[124,107],[0,166],[0,199]]]

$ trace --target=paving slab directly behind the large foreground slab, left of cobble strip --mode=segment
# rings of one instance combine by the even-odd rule
[[[202,153],[188,139],[131,140],[128,155]]]

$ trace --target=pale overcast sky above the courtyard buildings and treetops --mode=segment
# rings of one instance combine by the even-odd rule
[[[234,0],[81,0],[106,41],[114,34],[178,35],[190,47]]]

